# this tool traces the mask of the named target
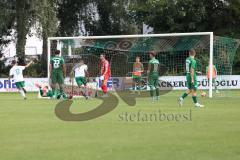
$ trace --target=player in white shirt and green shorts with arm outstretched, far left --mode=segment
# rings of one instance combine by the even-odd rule
[[[20,92],[20,94],[23,96],[23,98],[26,100],[26,89],[25,87],[25,82],[23,79],[23,70],[25,68],[28,68],[31,64],[33,63],[33,61],[31,61],[30,63],[28,63],[26,66],[19,66],[16,60],[12,61],[12,68],[10,69],[9,72],[9,82],[10,79],[13,78],[18,91]]]

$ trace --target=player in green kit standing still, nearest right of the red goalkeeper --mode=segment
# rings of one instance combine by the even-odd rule
[[[150,86],[150,96],[152,100],[159,100],[159,61],[155,58],[156,52],[149,52],[150,61],[148,63],[148,83]]]

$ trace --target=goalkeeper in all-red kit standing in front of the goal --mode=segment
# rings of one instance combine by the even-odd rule
[[[101,76],[100,76],[100,80],[102,81],[102,91],[104,93],[104,95],[102,97],[108,97],[107,95],[107,82],[108,79],[111,76],[111,69],[110,69],[110,64],[108,62],[108,60],[106,60],[105,55],[101,54],[100,55],[100,60],[101,60]]]

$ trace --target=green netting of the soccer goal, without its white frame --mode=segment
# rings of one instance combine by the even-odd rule
[[[214,37],[214,59],[218,75],[231,75],[233,60],[240,41],[226,37]],[[60,47],[59,47],[60,46]],[[161,76],[184,76],[188,51],[197,52],[198,70],[204,75],[209,64],[210,36],[68,39],[51,41],[51,53],[61,49],[67,73],[80,58],[84,59],[91,77],[100,74],[100,54],[105,54],[111,64],[112,77],[131,77],[133,63],[138,56],[147,70],[149,51],[157,52]],[[146,72],[143,74],[146,76]],[[68,75],[69,76],[69,75]]]

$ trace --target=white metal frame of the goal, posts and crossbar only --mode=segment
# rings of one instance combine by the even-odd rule
[[[78,36],[78,37],[49,37],[47,40],[48,45],[48,65],[50,64],[51,56],[51,41],[52,40],[68,40],[68,39],[116,39],[116,38],[147,38],[147,37],[183,37],[183,36],[209,36],[210,42],[210,51],[209,51],[209,67],[210,67],[210,77],[209,77],[209,98],[213,97],[213,32],[192,32],[192,33],[165,33],[165,34],[142,34],[142,35],[108,35],[108,36]],[[49,66],[48,66],[48,79],[49,75]]]

